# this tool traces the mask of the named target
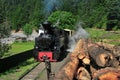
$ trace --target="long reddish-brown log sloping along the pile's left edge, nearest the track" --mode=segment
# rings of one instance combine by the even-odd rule
[[[83,49],[83,43],[83,39],[78,41],[74,51],[70,56],[71,60],[57,73],[54,80],[73,80],[79,64],[78,54],[79,51]]]

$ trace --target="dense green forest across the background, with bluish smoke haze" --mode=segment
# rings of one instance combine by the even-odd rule
[[[63,28],[81,22],[84,28],[118,30],[120,0],[0,0],[0,37],[10,30],[38,29],[45,20],[59,20]]]

